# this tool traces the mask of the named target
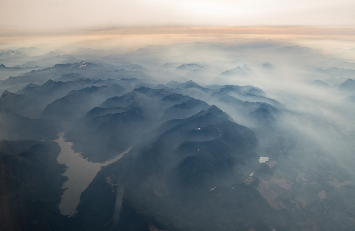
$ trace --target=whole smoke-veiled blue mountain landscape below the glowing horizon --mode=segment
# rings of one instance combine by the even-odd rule
[[[351,51],[62,50],[0,51],[2,230],[355,228]]]

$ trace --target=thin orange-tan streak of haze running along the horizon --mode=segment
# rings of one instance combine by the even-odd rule
[[[242,27],[115,27],[67,31],[3,30],[1,37],[59,36],[93,34],[295,34],[295,35],[355,35],[355,27],[347,26],[242,26]]]

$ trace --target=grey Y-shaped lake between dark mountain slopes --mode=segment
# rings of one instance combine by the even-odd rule
[[[68,167],[63,175],[69,178],[64,182],[62,187],[63,189],[67,188],[67,190],[62,195],[59,210],[63,215],[72,215],[76,213],[81,193],[89,186],[89,183],[94,179],[101,167],[117,161],[124,154],[128,153],[132,147],[117,155],[114,159],[104,163],[92,163],[83,159],[80,153],[74,153],[72,149],[73,143],[65,142],[63,138],[64,133],[59,133],[58,136],[59,138],[54,141],[61,148],[57,161]]]

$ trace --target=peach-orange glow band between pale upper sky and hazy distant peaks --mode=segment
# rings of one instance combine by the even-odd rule
[[[273,40],[325,50],[354,48],[353,28],[314,27],[150,27],[121,28],[76,33],[0,33],[0,49],[8,47],[53,48],[75,45],[83,48],[131,51],[146,45],[184,42],[238,42]]]

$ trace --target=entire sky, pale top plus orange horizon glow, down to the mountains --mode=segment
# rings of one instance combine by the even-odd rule
[[[2,49],[76,45],[129,51],[236,39],[354,47],[355,2],[350,0],[12,0],[0,6]]]

